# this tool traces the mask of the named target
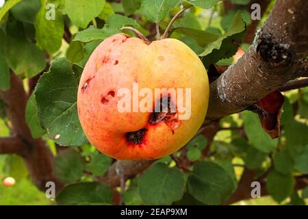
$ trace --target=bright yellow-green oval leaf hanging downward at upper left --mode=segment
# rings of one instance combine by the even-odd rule
[[[61,47],[64,23],[62,14],[58,10],[55,10],[54,20],[47,19],[46,5],[49,2],[50,1],[48,0],[41,0],[42,6],[36,16],[34,27],[36,28],[36,40],[38,41],[38,46],[49,54],[53,54]]]

